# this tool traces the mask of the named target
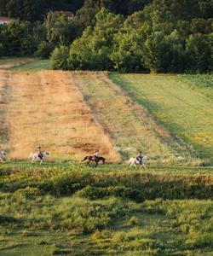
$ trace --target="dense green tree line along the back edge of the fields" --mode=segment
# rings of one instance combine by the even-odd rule
[[[212,9],[211,0],[86,0],[73,19],[50,11],[0,26],[0,55],[51,55],[55,69],[211,72]]]

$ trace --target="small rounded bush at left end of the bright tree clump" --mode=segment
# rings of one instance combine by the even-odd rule
[[[69,49],[66,46],[55,48],[51,54],[51,65],[53,69],[68,69]]]

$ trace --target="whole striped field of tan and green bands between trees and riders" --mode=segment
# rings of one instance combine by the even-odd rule
[[[0,138],[11,160],[41,144],[51,160],[98,148],[109,162],[139,150],[151,165],[212,162],[211,88],[187,76],[2,70],[0,87]]]

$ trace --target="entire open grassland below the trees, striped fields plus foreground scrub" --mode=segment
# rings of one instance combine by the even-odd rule
[[[212,255],[211,75],[1,61],[0,256]],[[83,165],[96,148],[107,163]]]

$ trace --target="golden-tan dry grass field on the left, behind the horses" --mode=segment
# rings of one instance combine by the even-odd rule
[[[71,73],[0,71],[0,88],[0,139],[10,159],[26,159],[37,145],[52,160],[81,160],[96,148],[109,161],[120,159]]]

